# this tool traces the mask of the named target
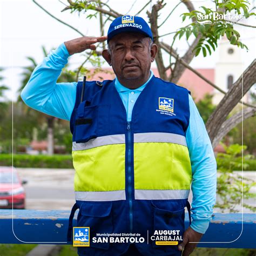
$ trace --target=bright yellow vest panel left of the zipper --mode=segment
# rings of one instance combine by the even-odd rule
[[[125,190],[125,144],[73,151],[75,191]]]

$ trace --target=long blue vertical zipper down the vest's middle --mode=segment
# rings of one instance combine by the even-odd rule
[[[128,142],[128,153],[127,153],[127,169],[128,169],[128,200],[129,200],[129,219],[130,219],[130,232],[133,229],[133,218],[132,218],[132,159],[131,159],[131,122],[127,122],[127,142]]]

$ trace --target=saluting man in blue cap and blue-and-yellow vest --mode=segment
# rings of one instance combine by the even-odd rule
[[[107,39],[104,59],[116,79],[56,84],[68,57]],[[153,76],[157,55],[140,17],[114,19],[107,37],[60,45],[22,91],[26,104],[70,120],[80,227],[97,233],[139,233],[144,242],[93,242],[79,255],[189,255],[207,230],[215,203],[216,165],[210,139],[190,93]],[[192,184],[192,224],[184,207]],[[71,230],[71,226],[70,226]],[[157,232],[181,234],[178,245],[158,245]],[[147,239],[149,241],[147,241]],[[175,239],[178,240],[178,239]]]

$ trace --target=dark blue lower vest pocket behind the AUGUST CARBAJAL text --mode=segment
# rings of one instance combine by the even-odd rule
[[[153,209],[153,233],[155,231],[176,231],[176,234],[166,234],[164,236],[170,237],[173,240],[168,240],[168,241],[178,241],[180,243],[181,241],[179,238],[183,237],[183,233],[185,230],[185,224],[184,224],[184,218],[185,218],[185,209],[182,208],[181,210],[178,211],[170,211],[169,209],[167,210],[168,207],[163,207],[159,208],[156,206],[153,201],[151,201],[152,204],[152,209]],[[166,206],[168,204],[171,204],[171,202],[166,202]],[[179,232],[179,234],[177,234]],[[163,235],[163,234],[160,234]],[[160,235],[155,235],[155,237],[160,237]],[[176,239],[179,237],[178,239]],[[160,239],[160,241],[164,241],[164,239]],[[174,252],[178,250],[178,245],[156,245],[156,241],[152,241],[152,247],[154,248],[165,248],[166,251],[168,252]]]

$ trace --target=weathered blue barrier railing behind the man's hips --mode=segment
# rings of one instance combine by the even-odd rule
[[[69,211],[0,210],[0,244],[65,245]],[[76,217],[73,220],[76,226]],[[185,225],[188,226],[186,216]],[[198,247],[255,248],[256,214],[216,213]]]

